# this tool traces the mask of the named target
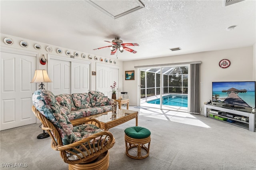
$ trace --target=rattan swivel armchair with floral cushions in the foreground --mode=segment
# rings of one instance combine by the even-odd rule
[[[108,169],[108,150],[112,148],[115,140],[112,133],[101,129],[98,120],[84,119],[80,125],[77,123],[73,127],[59,108],[54,95],[46,90],[36,91],[33,94],[33,103],[33,113],[42,122],[42,129],[50,134],[52,148],[60,151],[63,161],[69,164],[69,170]],[[88,133],[88,128],[88,131],[93,132]]]

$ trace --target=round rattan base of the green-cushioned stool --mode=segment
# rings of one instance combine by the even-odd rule
[[[144,158],[148,157],[150,141],[151,141],[150,136],[148,136],[147,138],[143,138],[143,139],[135,139],[135,138],[131,138],[131,137],[127,136],[126,134],[124,134],[124,140],[125,140],[125,148],[126,148],[127,156],[129,156],[130,158],[133,158],[133,159],[144,159]],[[146,144],[148,144],[148,146],[146,146]],[[137,147],[137,155],[136,156],[132,156],[128,152],[131,148],[134,148],[134,147]],[[146,152],[147,152],[146,155],[142,155],[142,149],[146,150]]]

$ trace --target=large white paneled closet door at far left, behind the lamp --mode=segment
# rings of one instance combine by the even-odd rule
[[[36,83],[30,83],[36,70],[36,53],[0,52],[0,130],[36,123],[31,107]]]

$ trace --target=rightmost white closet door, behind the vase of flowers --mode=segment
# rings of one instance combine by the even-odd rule
[[[109,98],[112,97],[112,89],[110,88],[116,81],[117,86],[119,77],[119,68],[106,64],[96,63],[96,91],[104,93]],[[118,87],[116,87],[118,97]]]

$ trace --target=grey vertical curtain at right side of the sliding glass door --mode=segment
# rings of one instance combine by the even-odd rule
[[[190,65],[190,111],[200,115],[200,64]]]

